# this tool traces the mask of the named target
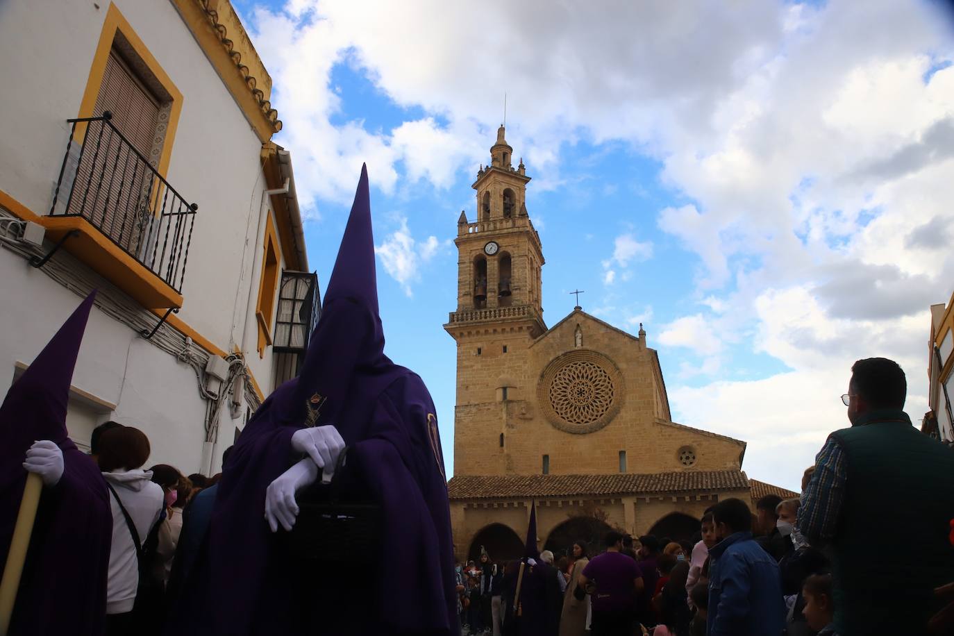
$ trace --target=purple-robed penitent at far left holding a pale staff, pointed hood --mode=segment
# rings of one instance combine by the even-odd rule
[[[10,634],[101,634],[113,513],[106,482],[67,437],[73,367],[93,296],[73,312],[0,406],[0,569],[23,497],[23,461],[33,441],[63,451],[63,477],[43,486]]]

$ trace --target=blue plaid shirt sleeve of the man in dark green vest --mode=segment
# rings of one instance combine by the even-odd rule
[[[798,507],[798,531],[809,542],[835,537],[846,477],[844,451],[835,438],[829,437],[815,458],[815,474],[801,494]]]

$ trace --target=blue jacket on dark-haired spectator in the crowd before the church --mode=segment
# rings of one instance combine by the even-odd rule
[[[785,627],[778,564],[751,532],[709,550],[709,636],[778,636]]]

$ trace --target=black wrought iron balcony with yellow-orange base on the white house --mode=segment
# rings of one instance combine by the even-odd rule
[[[61,241],[83,236],[85,244],[77,238],[66,249],[147,307],[179,306],[198,206],[179,195],[111,119],[106,112],[67,120],[70,140],[44,224]],[[148,280],[142,268],[171,289]]]

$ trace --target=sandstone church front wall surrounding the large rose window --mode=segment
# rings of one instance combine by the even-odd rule
[[[577,326],[582,335],[579,348]],[[458,339],[456,474],[540,474],[544,455],[549,456],[554,475],[609,474],[619,472],[620,451],[626,451],[629,473],[740,467],[739,442],[660,421],[668,415],[658,397],[664,388],[658,386],[654,352],[644,339],[575,312],[529,344],[527,331],[506,325]],[[593,351],[611,360],[621,380],[616,387],[623,400],[619,411],[608,424],[586,434],[555,427],[546,405],[538,401],[541,374],[550,362],[576,351]],[[508,388],[507,401],[502,400],[502,381],[516,385]],[[689,466],[679,457],[687,447],[695,454],[695,463]]]

